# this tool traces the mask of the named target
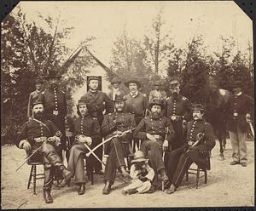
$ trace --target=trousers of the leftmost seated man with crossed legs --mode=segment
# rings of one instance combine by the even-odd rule
[[[36,151],[40,145],[32,145],[32,153]],[[43,142],[41,149],[33,156],[37,160],[39,157],[43,157],[44,163],[44,190],[51,190],[53,183],[53,176],[55,174],[55,169],[62,172],[63,169],[66,169],[65,166],[61,163],[61,157],[58,155],[55,150],[55,146]],[[32,159],[32,161],[36,161]]]

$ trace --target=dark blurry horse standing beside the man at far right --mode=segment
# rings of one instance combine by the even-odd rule
[[[232,94],[230,91],[223,88],[218,88],[218,81],[215,78],[209,77],[205,102],[205,117],[207,122],[212,124],[214,134],[218,138],[220,146],[220,160],[224,160],[224,149],[226,145],[227,133],[227,109],[231,95]]]

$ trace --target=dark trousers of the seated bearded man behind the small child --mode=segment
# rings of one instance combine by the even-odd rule
[[[162,151],[162,140],[152,141],[152,140],[143,140],[141,151],[144,155],[148,157],[150,166],[154,169],[154,180],[153,185],[157,185],[158,173],[161,169],[165,169],[163,162],[163,151]]]

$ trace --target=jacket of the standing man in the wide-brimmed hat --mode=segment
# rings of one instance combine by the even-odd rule
[[[144,117],[145,111],[148,108],[148,98],[146,94],[138,92],[136,97],[132,97],[131,94],[125,95],[125,109],[127,112],[135,114],[138,117]]]

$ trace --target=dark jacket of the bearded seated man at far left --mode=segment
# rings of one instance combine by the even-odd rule
[[[41,123],[38,123],[35,119],[32,119],[24,123],[21,132],[15,141],[16,145],[18,146],[20,144],[20,140],[27,140],[33,145],[34,139],[42,136],[47,138],[54,135],[61,137],[61,131],[56,128],[54,123],[46,119],[40,122]]]

